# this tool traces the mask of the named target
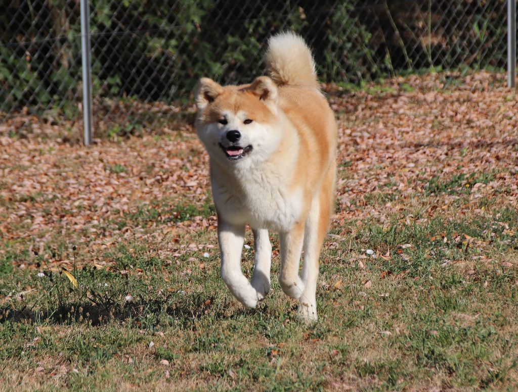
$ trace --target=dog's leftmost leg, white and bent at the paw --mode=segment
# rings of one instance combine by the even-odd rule
[[[232,224],[219,218],[218,238],[223,281],[241,304],[247,308],[255,308],[260,295],[241,272],[244,224]]]

